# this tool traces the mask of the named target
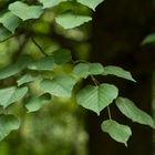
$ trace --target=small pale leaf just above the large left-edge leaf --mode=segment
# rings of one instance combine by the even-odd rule
[[[18,82],[18,86],[24,84],[24,83],[29,83],[34,81],[35,78],[32,76],[31,74],[24,74],[23,76],[21,76],[17,82]]]

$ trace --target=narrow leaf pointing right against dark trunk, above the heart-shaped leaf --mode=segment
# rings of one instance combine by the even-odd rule
[[[133,82],[136,82],[133,78],[132,74],[128,71],[123,70],[120,66],[115,66],[115,65],[108,65],[104,68],[104,72],[103,75],[115,75],[118,78],[123,78]]]

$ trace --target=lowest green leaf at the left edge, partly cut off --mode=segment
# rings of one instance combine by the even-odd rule
[[[14,115],[0,115],[0,141],[10,134],[10,132],[18,130],[20,126],[19,120]]]

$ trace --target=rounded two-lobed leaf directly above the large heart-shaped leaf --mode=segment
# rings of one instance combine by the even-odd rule
[[[79,63],[73,69],[73,74],[86,79],[89,75],[99,75],[104,72],[101,63]]]

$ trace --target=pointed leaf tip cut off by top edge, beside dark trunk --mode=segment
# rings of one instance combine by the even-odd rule
[[[78,0],[78,2],[91,8],[95,11],[95,8],[102,3],[104,0]]]

